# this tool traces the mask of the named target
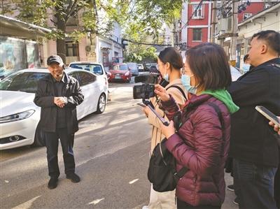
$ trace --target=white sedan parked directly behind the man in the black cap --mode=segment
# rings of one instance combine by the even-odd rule
[[[39,79],[48,69],[25,69],[0,81],[0,150],[25,145],[41,145],[36,131],[41,108],[33,102]],[[108,98],[104,78],[89,71],[65,69],[80,83],[85,96],[77,106],[78,120],[90,113],[103,113]]]

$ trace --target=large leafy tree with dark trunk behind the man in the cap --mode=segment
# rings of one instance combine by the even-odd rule
[[[3,1],[3,0],[2,0]],[[118,22],[120,12],[127,8],[129,0],[13,0],[10,1],[13,8],[19,10],[17,16],[20,20],[31,22],[41,27],[48,27],[47,20],[54,24],[55,29],[47,38],[57,41],[57,55],[65,61],[66,48],[65,38],[71,37],[74,41],[85,34],[106,34],[111,31],[113,22]],[[121,6],[121,9],[120,9]],[[5,14],[10,12],[1,10]],[[81,23],[77,29],[66,33],[66,24],[71,17],[81,15]]]

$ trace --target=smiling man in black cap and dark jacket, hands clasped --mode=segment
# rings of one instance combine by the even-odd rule
[[[83,102],[78,81],[64,73],[64,64],[58,55],[47,60],[49,75],[38,82],[34,103],[41,107],[39,127],[43,131],[47,147],[49,189],[57,187],[59,167],[57,161],[58,141],[62,145],[66,178],[79,182],[75,173],[73,155],[74,134],[78,131],[76,106]]]

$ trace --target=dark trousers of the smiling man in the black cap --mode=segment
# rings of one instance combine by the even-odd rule
[[[44,132],[45,147],[47,147],[48,175],[50,178],[59,177],[57,160],[58,141],[62,145],[65,174],[75,173],[75,160],[73,154],[74,134],[68,134],[66,128],[57,128],[56,132]]]

